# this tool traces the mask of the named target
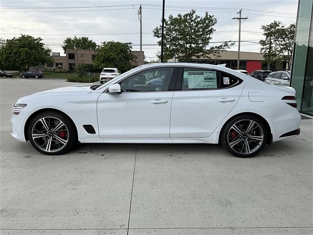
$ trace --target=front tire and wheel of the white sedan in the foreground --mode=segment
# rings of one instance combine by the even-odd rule
[[[58,112],[36,115],[27,128],[29,141],[37,151],[45,155],[67,153],[77,143],[74,124]]]

